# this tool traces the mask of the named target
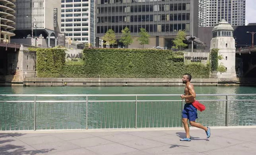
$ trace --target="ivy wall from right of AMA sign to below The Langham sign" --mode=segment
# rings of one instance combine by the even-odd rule
[[[208,78],[210,66],[184,63],[184,53],[159,49],[84,49],[85,70],[90,77]]]

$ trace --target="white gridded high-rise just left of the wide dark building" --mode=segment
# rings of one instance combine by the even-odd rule
[[[95,1],[61,0],[61,31],[71,40],[95,43]]]

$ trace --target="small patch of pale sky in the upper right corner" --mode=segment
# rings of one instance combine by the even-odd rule
[[[245,20],[248,23],[256,23],[256,0],[246,0]]]

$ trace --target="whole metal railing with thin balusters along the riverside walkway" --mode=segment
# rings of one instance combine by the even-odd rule
[[[200,94],[207,126],[256,125],[256,94]],[[180,95],[0,95],[0,130],[182,127]]]

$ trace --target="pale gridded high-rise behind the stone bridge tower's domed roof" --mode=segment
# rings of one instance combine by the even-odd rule
[[[225,19],[232,26],[245,25],[246,0],[198,0],[198,26],[215,26]]]

